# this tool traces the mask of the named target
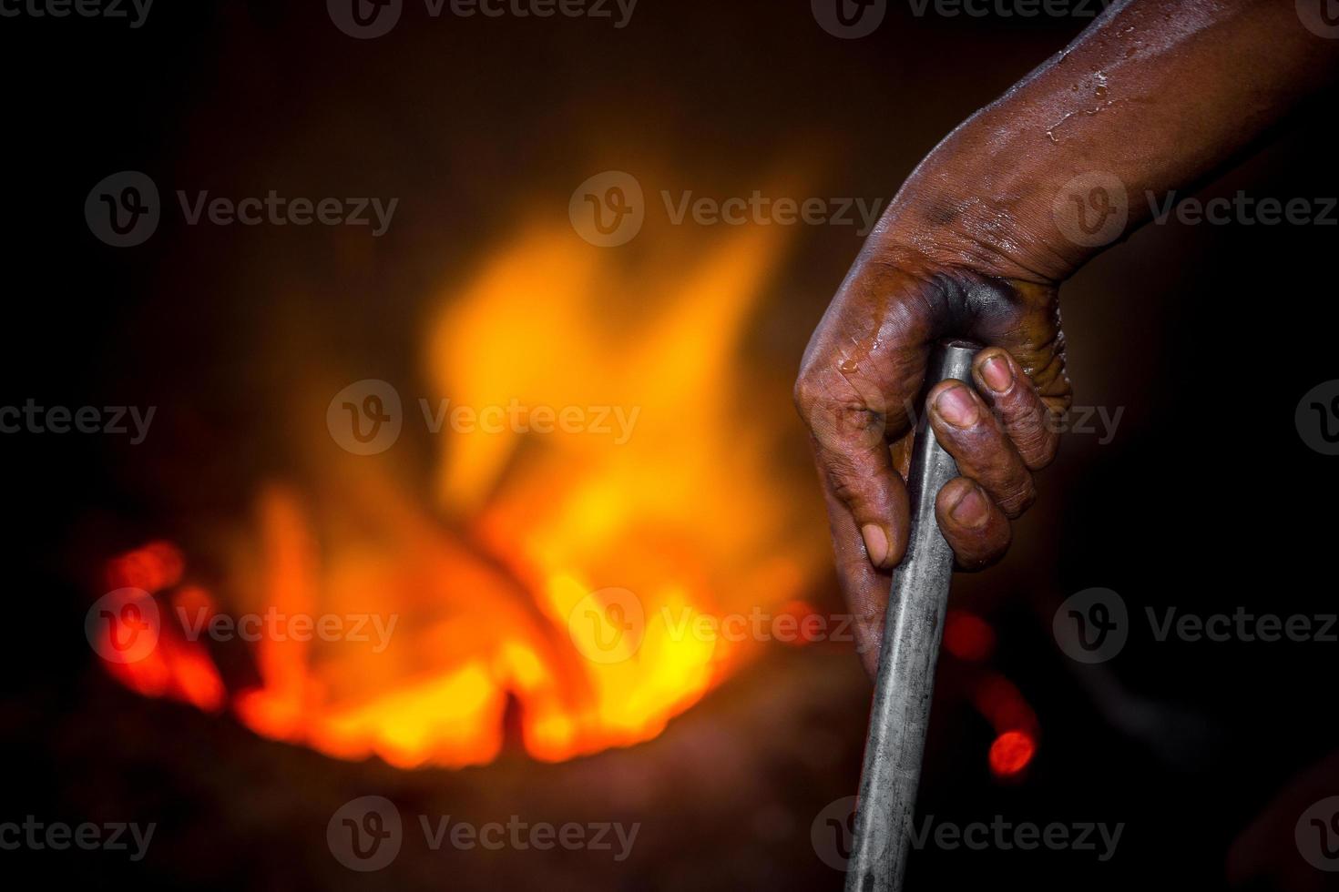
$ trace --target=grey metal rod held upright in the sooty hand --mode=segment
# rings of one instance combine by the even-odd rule
[[[977,346],[948,341],[931,357],[927,381],[971,380]],[[884,649],[874,679],[874,702],[860,778],[854,847],[846,865],[846,892],[897,892],[916,812],[935,661],[944,633],[953,552],[935,519],[935,497],[957,476],[957,464],[935,439],[920,412],[907,479],[912,527],[907,556],[893,570],[884,618]]]

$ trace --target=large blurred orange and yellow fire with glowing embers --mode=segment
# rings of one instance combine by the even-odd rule
[[[262,487],[254,523],[210,543],[218,578],[191,576],[166,543],[110,562],[108,584],[154,592],[163,619],[149,657],[104,666],[141,694],[228,707],[257,734],[398,766],[491,761],[507,710],[540,760],[656,736],[757,650],[694,634],[692,621],[806,614],[799,598],[825,559],[802,495],[811,481],[797,492],[769,465],[794,424],[789,400],[751,399],[750,374],[769,372],[742,360],[782,238],[740,227],[628,269],[565,226],[522,230],[437,304],[424,389],[475,408],[635,409],[627,441],[443,429],[427,485],[411,448],[339,449],[311,411],[339,385],[315,382],[312,468],[303,484]],[[408,429],[418,400],[403,411]],[[636,646],[590,659],[624,621],[615,590],[641,607]],[[218,642],[182,630],[217,614],[396,625],[383,650],[262,635],[246,643],[254,677],[225,683]]]

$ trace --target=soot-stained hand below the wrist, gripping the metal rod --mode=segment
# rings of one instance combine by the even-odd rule
[[[925,366],[943,337],[987,345],[973,386],[936,384]],[[905,473],[921,411],[963,476],[935,514],[964,570],[998,560],[1010,522],[1055,456],[1070,401],[1052,286],[1008,281],[873,245],[814,333],[795,385],[828,501],[837,570],[866,665],[878,659],[892,568],[907,550]]]

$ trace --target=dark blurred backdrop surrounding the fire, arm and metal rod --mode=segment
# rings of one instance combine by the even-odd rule
[[[187,514],[240,512],[250,481],[285,469],[284,408],[265,395],[312,358],[305,349],[412,377],[422,296],[522,211],[561,217],[576,185],[607,169],[747,194],[797,158],[809,194],[888,197],[948,130],[1083,24],[916,19],[894,3],[874,35],[845,41],[805,3],[706,0],[641,0],[621,31],[561,17],[432,20],[410,3],[371,41],[336,31],[320,3],[159,0],[138,31],[0,20],[0,403],[158,405],[163,427],[141,448],[0,439],[15,633],[0,820],[161,825],[139,864],[106,852],[0,852],[0,864],[141,888],[838,888],[809,824],[858,776],[869,685],[840,647],[770,654],[639,748],[399,772],[261,741],[230,718],[121,689],[83,635],[90,586],[111,551]],[[1339,194],[1332,99],[1204,194]],[[191,229],[165,210],[146,245],[116,250],[91,235],[83,202],[126,169],[150,174],[165,198],[182,185],[402,202],[371,246],[317,227]],[[1020,782],[992,781],[990,729],[941,695],[920,808],[960,822],[1126,828],[1107,863],[929,849],[912,860],[912,888],[1218,888],[1229,860],[1252,888],[1324,887],[1292,828],[1302,808],[1339,793],[1339,770],[1297,780],[1335,749],[1332,643],[1157,643],[1145,629],[1094,674],[1056,649],[1050,618],[1091,586],[1117,590],[1137,614],[1334,611],[1335,459],[1304,445],[1293,411],[1339,377],[1336,231],[1150,226],[1066,285],[1077,401],[1125,407],[1118,436],[1069,437],[1010,558],[955,588],[995,623],[995,665],[1036,709],[1043,749]],[[842,227],[798,234],[755,320],[753,358],[777,372],[759,400],[789,400],[858,243]],[[309,320],[311,341],[276,344],[295,320]],[[805,469],[798,420],[793,444]],[[833,583],[822,596],[837,608]],[[410,851],[353,875],[329,857],[324,828],[367,792],[407,814],[522,810],[644,826],[624,864],[589,852]],[[1296,808],[1269,817],[1280,796]],[[1264,829],[1235,844],[1259,820]]]

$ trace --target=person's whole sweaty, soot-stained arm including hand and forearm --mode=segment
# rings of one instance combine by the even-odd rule
[[[1034,476],[1058,448],[1051,421],[1070,405],[1060,282],[1146,222],[1144,197],[1204,182],[1336,78],[1339,40],[1308,28],[1292,3],[1117,0],[911,175],[795,384],[870,671],[907,550],[913,419],[929,413],[961,472],[936,500],[959,567],[991,564],[1035,497]],[[1055,210],[1093,182],[1127,210],[1098,245]],[[931,348],[945,337],[986,345],[975,386],[940,384],[917,405]]]

